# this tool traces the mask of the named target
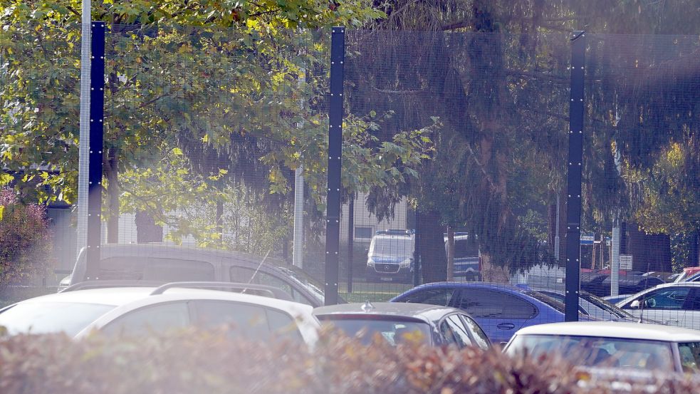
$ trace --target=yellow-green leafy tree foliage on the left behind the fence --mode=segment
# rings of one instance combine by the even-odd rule
[[[16,180],[20,189],[51,186],[53,195],[39,195],[41,201],[75,199],[76,6],[70,1],[3,5],[3,49],[11,66],[4,74],[7,133],[0,153],[6,167],[25,174]],[[104,155],[110,242],[116,240],[113,224],[125,209],[171,224],[176,239],[189,234],[211,244],[204,234],[217,229],[216,222],[221,229],[227,190],[258,196],[268,212],[287,212],[283,195],[291,191],[289,180],[299,165],[315,212],[323,212],[329,34],[313,29],[358,25],[382,15],[362,1],[174,1],[155,8],[147,1],[98,4],[93,17],[112,28]],[[25,43],[28,33],[36,40]],[[51,43],[48,50],[46,43]],[[304,74],[308,82],[300,85]],[[375,127],[372,118],[367,113],[345,121],[344,147],[350,155],[343,180],[350,192],[371,185],[396,187],[427,157],[431,126],[375,144],[367,133]],[[173,152],[184,158],[175,159]],[[213,222],[201,215],[169,214],[195,202],[199,207],[214,202]],[[221,234],[216,237],[220,240]]]

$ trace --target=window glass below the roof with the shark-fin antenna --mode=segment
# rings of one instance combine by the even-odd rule
[[[333,323],[345,335],[359,338],[369,345],[380,336],[392,346],[401,341],[430,343],[430,326],[417,321],[399,319],[366,318],[364,316],[318,316],[320,321]]]

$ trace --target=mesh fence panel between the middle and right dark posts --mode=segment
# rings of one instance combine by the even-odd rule
[[[390,298],[407,289],[395,281],[412,287],[414,269],[422,283],[503,287],[518,271],[556,266],[550,207],[565,189],[568,37],[348,36],[348,117],[367,118],[377,145],[429,140],[411,147],[419,165],[387,174],[395,184],[358,196],[355,238],[370,255],[357,280]],[[558,270],[542,270],[525,275],[530,285],[555,286]]]

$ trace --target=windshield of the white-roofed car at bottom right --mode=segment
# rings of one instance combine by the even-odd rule
[[[516,335],[506,353],[556,353],[576,366],[674,370],[671,344],[595,336]]]

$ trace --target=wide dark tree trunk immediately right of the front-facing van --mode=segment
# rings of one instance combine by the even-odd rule
[[[445,240],[442,235],[444,226],[440,220],[440,212],[430,210],[420,215],[421,237],[420,254],[425,283],[446,281],[447,255]]]

